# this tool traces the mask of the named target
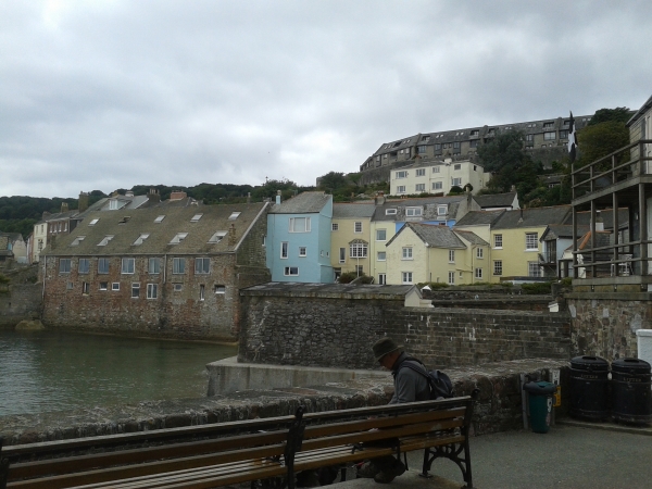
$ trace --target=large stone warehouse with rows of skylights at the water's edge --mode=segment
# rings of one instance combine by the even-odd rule
[[[41,254],[46,326],[235,341],[269,203],[96,211]]]

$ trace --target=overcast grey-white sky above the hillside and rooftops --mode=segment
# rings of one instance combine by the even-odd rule
[[[638,109],[652,2],[0,1],[0,196],[314,185],[416,133]]]

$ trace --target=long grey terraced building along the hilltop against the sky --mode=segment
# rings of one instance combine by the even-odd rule
[[[585,127],[591,115],[575,117],[577,130]],[[384,142],[365,162],[360,165],[361,184],[389,181],[390,171],[415,163],[471,160],[475,162],[477,149],[497,134],[521,130],[525,134],[525,149],[531,152],[535,161],[548,166],[554,160],[567,155],[569,118],[556,117],[496,126],[467,127],[464,129],[419,133],[403,139]]]

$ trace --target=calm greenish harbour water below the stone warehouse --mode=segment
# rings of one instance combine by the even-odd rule
[[[0,330],[0,416],[203,397],[205,364],[236,347]]]

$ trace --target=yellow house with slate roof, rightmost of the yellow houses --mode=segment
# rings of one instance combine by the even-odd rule
[[[491,275],[541,277],[542,246],[539,241],[549,224],[564,224],[570,205],[506,211],[491,226]]]

